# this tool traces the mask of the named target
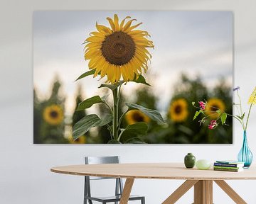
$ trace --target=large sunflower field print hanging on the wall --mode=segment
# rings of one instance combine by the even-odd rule
[[[36,11],[33,83],[35,144],[231,144],[233,13]]]

